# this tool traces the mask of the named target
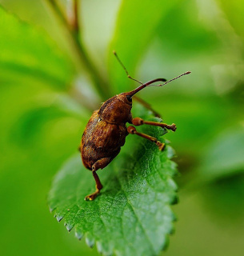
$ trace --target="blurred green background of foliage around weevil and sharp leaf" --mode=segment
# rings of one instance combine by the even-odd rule
[[[114,49],[143,82],[192,71],[139,95],[178,126],[166,134],[178,222],[162,254],[243,255],[244,2],[82,0],[79,34],[50,2],[0,0],[1,255],[98,255],[56,222],[46,196],[92,110],[138,86]],[[57,2],[74,24],[74,2]]]

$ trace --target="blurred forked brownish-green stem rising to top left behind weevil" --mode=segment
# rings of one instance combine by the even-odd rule
[[[74,46],[74,50],[78,54],[82,66],[86,69],[87,73],[90,74],[90,80],[94,83],[95,89],[102,99],[110,97],[110,86],[106,82],[105,78],[99,74],[96,66],[90,59],[89,54],[87,54],[86,47],[81,39],[81,30],[78,23],[78,0],[74,0],[73,5],[73,17],[72,21],[69,21],[65,15],[62,13],[62,10],[58,6],[55,0],[47,0],[50,2],[50,6],[54,12],[58,15],[58,18],[61,20],[63,25],[66,27],[68,34],[70,35],[71,43]]]

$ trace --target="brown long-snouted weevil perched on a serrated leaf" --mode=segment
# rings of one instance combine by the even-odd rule
[[[123,66],[115,52],[114,55],[126,71],[128,78],[139,82],[130,77],[126,67]],[[157,85],[164,86],[166,83],[180,78],[185,74],[190,74],[190,71],[167,82],[164,78],[156,78],[146,83],[139,82],[141,86],[138,86],[138,88],[127,93],[115,95],[104,102],[99,110],[94,111],[86,125],[79,148],[82,162],[87,169],[92,171],[96,182],[95,192],[87,195],[85,200],[94,200],[100,193],[100,190],[102,190],[102,183],[98,178],[97,170],[105,168],[118,155],[121,147],[126,142],[126,136],[128,134],[136,134],[142,138],[146,138],[151,142],[154,142],[159,150],[163,150],[165,146],[164,143],[159,142],[157,138],[151,137],[150,135],[139,133],[134,126],[142,126],[145,124],[150,126],[160,126],[175,131],[175,124],[167,125],[162,122],[150,122],[145,121],[142,118],[132,118],[132,97],[146,86],[154,86],[154,82],[164,82],[161,85]],[[126,127],[127,122],[134,126]]]

